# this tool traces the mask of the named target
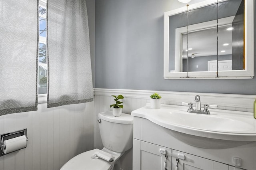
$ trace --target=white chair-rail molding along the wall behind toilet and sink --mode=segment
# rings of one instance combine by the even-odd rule
[[[255,95],[237,95],[221,93],[194,93],[176,91],[151,91],[129,89],[94,89],[95,96],[111,96],[122,94],[129,99],[146,99],[150,101],[152,93],[159,93],[162,104],[181,105],[181,102],[192,102],[196,95],[200,95],[201,104],[218,105],[218,109],[253,112]]]

